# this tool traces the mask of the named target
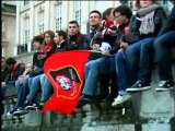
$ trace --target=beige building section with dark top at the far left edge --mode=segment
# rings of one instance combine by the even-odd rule
[[[15,44],[15,22],[16,22],[15,1],[2,1],[1,11],[2,11],[1,13],[2,56],[11,57],[11,56],[14,56],[12,50]]]

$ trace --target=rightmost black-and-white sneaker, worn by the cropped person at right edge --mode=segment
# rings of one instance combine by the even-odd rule
[[[174,84],[170,81],[161,81],[158,87],[155,87],[156,92],[170,91],[174,88]]]

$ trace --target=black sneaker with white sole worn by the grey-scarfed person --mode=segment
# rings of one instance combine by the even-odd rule
[[[143,83],[141,81],[137,81],[131,87],[127,88],[127,92],[141,92],[150,90],[150,84]]]

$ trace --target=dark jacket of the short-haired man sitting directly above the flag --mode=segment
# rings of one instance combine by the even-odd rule
[[[86,35],[78,33],[74,36],[69,36],[68,50],[88,50],[90,45],[86,43]]]

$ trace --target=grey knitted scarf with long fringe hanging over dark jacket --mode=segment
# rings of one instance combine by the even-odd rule
[[[154,25],[154,13],[156,9],[160,9],[161,7],[158,4],[153,4],[148,8],[142,8],[139,11],[137,11],[137,14],[141,17],[139,19],[141,21],[140,25],[140,34],[150,34],[153,33],[155,29]]]

